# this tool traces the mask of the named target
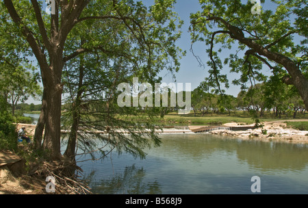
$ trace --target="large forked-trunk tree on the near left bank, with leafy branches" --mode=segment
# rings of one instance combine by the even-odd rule
[[[42,112],[38,122],[38,132],[35,137],[42,137],[44,129],[44,140],[42,148],[48,151],[50,159],[60,159],[60,123],[62,90],[62,71],[68,60],[77,57],[81,53],[92,51],[112,51],[106,48],[101,36],[98,38],[88,34],[84,44],[68,44],[73,40],[73,30],[82,29],[84,25],[93,25],[100,21],[108,23],[108,20],[116,21],[125,27],[125,32],[131,34],[131,41],[136,47],[142,47],[149,58],[140,60],[148,62],[147,70],[151,71],[151,63],[155,54],[164,51],[164,58],[174,64],[169,70],[178,70],[178,50],[175,40],[179,38],[177,31],[177,19],[172,12],[174,1],[155,1],[150,10],[141,2],[131,0],[113,1],[90,1],[90,0],[55,0],[55,9],[51,14],[45,14],[42,1],[12,1],[3,0],[1,6],[5,8],[2,12],[8,12],[18,29],[16,35],[23,36],[27,40],[29,49],[36,57],[40,67],[42,83],[44,86],[42,96]],[[6,15],[6,14],[4,14]],[[6,20],[8,24],[10,20]],[[94,27],[93,25],[92,27]],[[112,27],[112,25],[110,25]],[[117,31],[113,36],[116,38]],[[105,37],[107,38],[107,37]],[[71,47],[66,50],[66,47]],[[64,51],[71,51],[70,54]],[[168,59],[168,57],[171,57]],[[162,64],[162,62],[160,62]],[[161,65],[165,68],[165,64]],[[155,72],[157,73],[157,72]],[[151,75],[148,73],[146,75]]]

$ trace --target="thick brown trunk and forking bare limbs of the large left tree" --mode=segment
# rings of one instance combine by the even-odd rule
[[[25,39],[29,43],[40,65],[42,83],[44,90],[46,90],[45,101],[47,103],[44,115],[42,115],[42,122],[40,122],[40,125],[45,122],[42,148],[49,155],[49,159],[60,159],[62,156],[60,153],[60,121],[63,88],[61,76],[64,66],[63,49],[69,32],[77,23],[81,12],[86,8],[89,1],[76,1],[75,3],[73,3],[73,1],[61,1],[61,14],[59,12],[60,4],[58,4],[58,1],[55,1],[55,14],[51,14],[50,37],[44,27],[40,5],[37,1],[31,1],[31,3],[34,8],[34,14],[36,15],[39,33],[37,31],[31,31],[29,27],[27,27],[27,24],[23,22],[23,19],[16,12],[14,3],[11,0],[4,0],[3,3],[10,13],[12,21],[21,29],[23,36],[25,36]],[[42,42],[38,42],[40,38],[34,36],[34,34],[40,34]],[[45,49],[48,51],[49,63],[47,62]],[[75,55],[77,55],[77,53],[73,53],[73,55],[69,57],[71,58]],[[40,128],[42,129],[43,127],[40,126]],[[40,132],[38,132],[37,135],[42,135],[41,129],[38,129]],[[39,140],[38,138],[38,142]]]

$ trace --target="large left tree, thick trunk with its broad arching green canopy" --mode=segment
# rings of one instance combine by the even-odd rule
[[[24,43],[18,51],[36,57],[44,90],[34,138],[40,144],[44,130],[38,148],[59,159],[66,63],[85,54],[122,57],[134,75],[153,83],[160,70],[179,70],[182,51],[175,42],[182,22],[172,11],[173,0],[157,0],[150,8],[132,0],[54,3],[54,11],[47,14],[43,1],[1,1],[1,22],[14,33],[12,40]]]

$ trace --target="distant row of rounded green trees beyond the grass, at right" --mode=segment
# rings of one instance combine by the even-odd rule
[[[251,116],[262,117],[265,114],[273,114],[277,118],[281,115],[296,118],[298,113],[306,112],[305,104],[294,86],[287,86],[284,83],[269,80],[264,83],[257,83],[247,90],[242,90],[238,96],[229,94],[215,94],[204,88],[202,82],[192,92],[192,110],[194,116],[200,113],[222,114],[236,111],[249,113]]]

